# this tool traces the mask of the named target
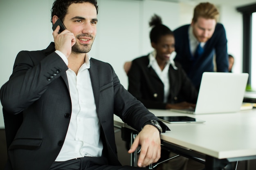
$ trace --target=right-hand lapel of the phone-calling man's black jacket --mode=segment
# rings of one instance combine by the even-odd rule
[[[98,73],[97,66],[92,58],[90,59],[89,73],[90,73],[90,78],[91,78],[91,82],[92,82],[92,90],[93,90],[93,95],[94,95],[94,100],[95,100],[95,105],[96,105],[96,111],[98,113],[98,111],[99,111],[99,89],[100,89],[99,73]]]

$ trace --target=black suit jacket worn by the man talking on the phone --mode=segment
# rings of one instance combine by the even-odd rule
[[[9,147],[6,170],[47,170],[61,150],[72,105],[68,68],[54,51],[54,43],[42,51],[21,51],[13,74],[1,88]],[[103,156],[109,164],[120,165],[113,113],[138,131],[146,121],[157,118],[124,89],[110,64],[91,58],[89,73]]]

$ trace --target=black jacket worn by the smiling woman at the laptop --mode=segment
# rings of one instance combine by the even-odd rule
[[[136,58],[128,72],[128,91],[140,100],[146,108],[165,109],[164,84],[155,70],[148,67],[148,55]],[[186,73],[178,64],[177,70],[171,65],[168,70],[170,82],[170,94],[168,103],[191,102],[196,103],[198,91],[186,76]]]

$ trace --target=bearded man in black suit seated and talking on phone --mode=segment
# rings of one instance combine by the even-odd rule
[[[138,166],[160,157],[159,132],[168,129],[128,93],[108,63],[90,58],[96,35],[97,0],[56,0],[54,43],[21,51],[0,91],[8,162],[6,170],[119,170],[113,114],[139,131]]]

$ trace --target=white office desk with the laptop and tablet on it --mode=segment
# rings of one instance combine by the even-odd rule
[[[241,161],[256,159],[256,110],[238,113],[191,115],[170,110],[149,109],[156,116],[187,115],[205,120],[200,124],[168,124],[171,131],[160,135],[167,147],[180,146],[205,155],[206,169],[215,170],[220,159]],[[115,125],[129,128],[119,117]],[[170,144],[170,145],[168,145]]]

